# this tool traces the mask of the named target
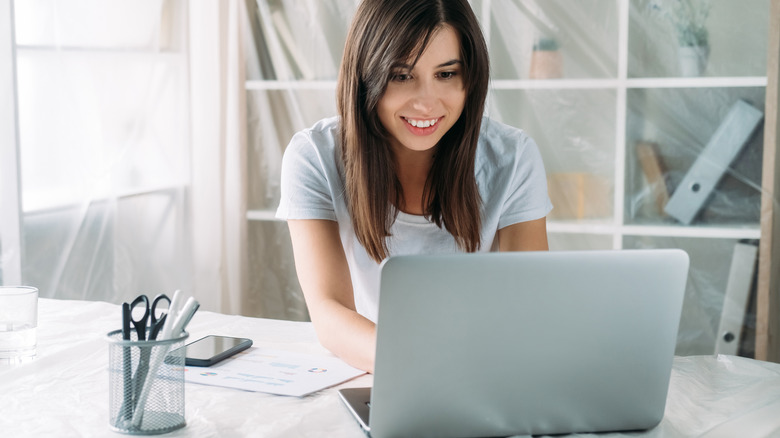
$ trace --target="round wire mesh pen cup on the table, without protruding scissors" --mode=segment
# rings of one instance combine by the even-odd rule
[[[186,425],[183,332],[173,339],[139,341],[135,333],[107,335],[109,425],[129,435],[157,435]]]

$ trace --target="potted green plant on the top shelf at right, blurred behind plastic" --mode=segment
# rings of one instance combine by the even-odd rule
[[[710,55],[706,21],[710,0],[652,0],[650,9],[664,19],[677,36],[681,76],[701,76]]]

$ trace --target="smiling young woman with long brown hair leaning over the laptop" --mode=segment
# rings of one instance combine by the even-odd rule
[[[277,217],[320,342],[355,367],[373,371],[385,258],[547,249],[541,157],[483,118],[488,65],[467,0],[364,0],[339,117],[287,146]]]

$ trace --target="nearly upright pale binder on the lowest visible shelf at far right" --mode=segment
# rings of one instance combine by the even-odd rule
[[[736,355],[739,352],[739,340],[753,286],[757,255],[758,247],[754,244],[739,242],[734,245],[720,326],[715,339],[715,354]]]

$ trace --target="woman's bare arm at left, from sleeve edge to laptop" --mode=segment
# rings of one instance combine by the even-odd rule
[[[288,220],[295,269],[320,343],[348,364],[372,373],[376,326],[355,310],[352,279],[330,220]]]

